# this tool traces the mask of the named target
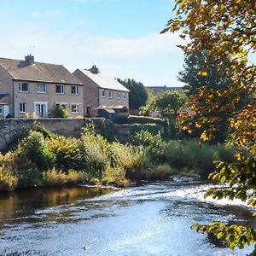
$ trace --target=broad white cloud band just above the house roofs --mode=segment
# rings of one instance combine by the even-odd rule
[[[63,64],[70,71],[96,64],[111,76],[134,78],[149,85],[177,85],[176,74],[182,68],[183,53],[176,47],[181,39],[172,33],[107,38],[30,27],[4,35],[0,56],[20,59],[32,51],[36,61]],[[32,45],[35,48],[29,47]]]

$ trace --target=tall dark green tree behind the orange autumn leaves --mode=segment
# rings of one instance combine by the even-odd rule
[[[230,75],[221,77],[221,73],[217,71],[217,66],[224,67],[225,61],[220,60],[218,63],[211,63],[211,60],[208,59],[206,50],[185,57],[184,69],[178,73],[178,80],[186,84],[184,89],[187,90],[188,95],[196,94],[201,86],[220,90],[231,84]],[[207,75],[201,76],[198,73],[204,68],[206,62],[210,62],[207,67]]]

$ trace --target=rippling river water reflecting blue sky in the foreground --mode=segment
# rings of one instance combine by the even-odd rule
[[[255,226],[240,201],[204,200],[203,183],[122,190],[31,189],[0,194],[0,255],[246,255],[190,226]]]

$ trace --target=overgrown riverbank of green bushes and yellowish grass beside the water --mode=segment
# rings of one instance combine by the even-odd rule
[[[235,150],[223,145],[198,148],[195,140],[164,141],[148,131],[126,145],[109,143],[93,130],[79,138],[30,131],[13,150],[0,154],[0,190],[76,183],[125,187],[131,180],[172,174],[207,177],[213,161],[231,161]]]

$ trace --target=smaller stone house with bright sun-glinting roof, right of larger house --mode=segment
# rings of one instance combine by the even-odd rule
[[[96,66],[73,73],[84,84],[84,114],[96,115],[99,108],[125,106],[129,109],[129,92],[116,79],[102,75]],[[91,113],[91,114],[90,114]]]

